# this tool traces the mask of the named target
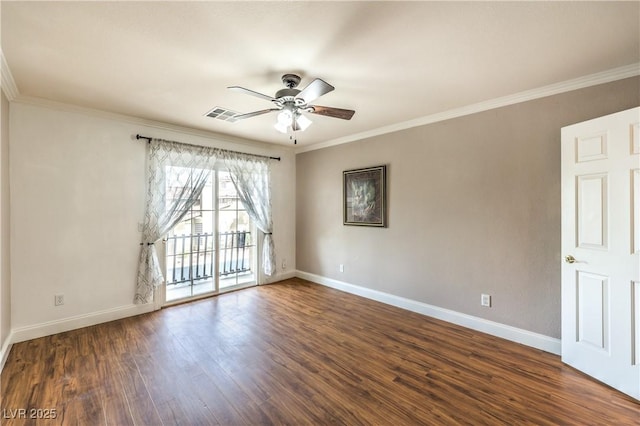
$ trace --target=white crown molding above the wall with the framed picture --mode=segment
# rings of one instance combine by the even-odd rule
[[[437,123],[439,121],[450,120],[452,118],[463,117],[465,115],[475,114],[478,112],[488,111],[495,108],[514,105],[521,102],[532,101],[535,99],[545,98],[547,96],[557,95],[560,93],[570,92],[572,90],[583,89],[585,87],[596,86],[598,84],[610,83],[616,80],[622,80],[629,77],[640,75],[640,62],[625,65],[619,68],[613,68],[595,74],[589,74],[572,80],[560,83],[550,84],[548,86],[539,87],[537,89],[525,90],[524,92],[515,93],[513,95],[503,96],[472,105],[454,108],[436,114],[427,115],[413,120],[403,121],[401,123],[389,126],[378,127],[377,129],[368,130],[366,132],[355,133],[353,135],[332,139],[326,142],[320,142],[310,146],[301,146],[295,149],[296,154],[318,149],[329,148],[331,146],[342,145],[349,142],[355,142],[362,139],[372,138],[387,133],[398,132],[401,130],[411,129],[413,127],[424,126],[427,124]]]

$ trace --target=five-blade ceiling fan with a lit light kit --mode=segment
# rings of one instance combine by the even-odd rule
[[[265,99],[274,104],[273,108],[249,112],[247,114],[236,114],[229,121],[244,120],[245,118],[279,111],[274,127],[282,133],[288,133],[289,131],[304,131],[309,127],[311,120],[302,115],[303,112],[341,118],[343,120],[350,120],[353,114],[355,114],[355,111],[350,109],[311,105],[311,102],[335,89],[322,79],[316,78],[302,90],[296,89],[298,84],[300,84],[300,76],[296,74],[283,75],[282,82],[285,88],[278,90],[273,97],[240,86],[228,87],[228,89],[233,91]]]

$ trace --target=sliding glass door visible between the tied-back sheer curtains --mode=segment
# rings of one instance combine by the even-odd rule
[[[167,175],[167,197],[175,191]],[[229,173],[214,170],[200,198],[165,238],[165,302],[255,285],[255,227]]]

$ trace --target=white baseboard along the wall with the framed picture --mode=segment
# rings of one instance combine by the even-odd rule
[[[439,308],[437,306],[418,302],[416,300],[407,299],[404,297],[395,296],[393,294],[372,290],[366,287],[349,284],[343,281],[334,280],[332,278],[322,277],[320,275],[311,274],[309,272],[297,271],[296,276],[317,284],[366,297],[367,299],[386,303],[388,305],[396,306],[408,311],[417,312],[419,314],[427,315],[439,320],[467,327],[472,330],[481,331],[483,333],[491,334],[492,336],[500,337],[516,343],[521,343],[523,345],[531,346],[533,348],[550,352],[552,354],[561,354],[561,341],[560,339],[556,339],[554,337],[533,333],[531,331],[512,327],[510,325],[489,321],[483,318],[474,317],[449,309]]]

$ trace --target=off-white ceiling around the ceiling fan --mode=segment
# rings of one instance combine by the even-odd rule
[[[2,51],[19,97],[290,144],[265,115],[296,72],[336,87],[298,143],[365,134],[640,62],[640,2],[12,2]]]

